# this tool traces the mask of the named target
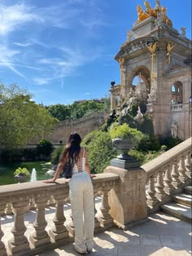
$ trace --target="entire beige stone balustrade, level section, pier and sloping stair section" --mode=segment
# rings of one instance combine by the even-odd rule
[[[133,223],[142,222],[147,214],[159,210],[160,205],[190,183],[191,138],[141,167],[129,167],[107,166],[103,174],[93,179],[94,195],[102,196],[100,207],[95,208],[95,232],[106,230],[114,223],[127,229]],[[0,223],[0,255],[34,255],[73,241],[75,228],[71,215],[66,221],[63,207],[67,199],[65,179],[49,184],[37,181],[1,186],[0,214],[13,213],[15,221],[8,241]],[[55,205],[55,216],[49,221],[47,205]],[[36,218],[26,226],[24,217],[30,209],[35,209]]]

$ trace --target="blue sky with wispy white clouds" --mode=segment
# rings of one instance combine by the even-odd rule
[[[72,104],[109,95],[114,60],[144,0],[0,1],[0,82],[37,103]],[[155,7],[155,0],[149,0]],[[161,0],[175,29],[191,38],[191,0]]]

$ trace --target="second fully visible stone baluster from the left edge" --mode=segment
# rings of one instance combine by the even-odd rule
[[[40,197],[41,196],[41,197]],[[35,203],[37,205],[37,215],[36,220],[33,223],[33,227],[35,231],[29,236],[29,240],[34,247],[39,245],[45,245],[50,243],[50,236],[46,232],[46,218],[45,218],[45,206],[48,200],[48,196],[44,196],[39,194],[37,198],[35,198]]]

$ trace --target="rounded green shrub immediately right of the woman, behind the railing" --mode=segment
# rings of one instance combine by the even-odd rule
[[[103,173],[103,170],[110,164],[111,158],[116,157],[110,135],[101,130],[85,136],[82,146],[85,146],[88,151],[91,172]]]

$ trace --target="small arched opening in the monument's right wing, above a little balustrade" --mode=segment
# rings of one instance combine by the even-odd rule
[[[172,104],[183,103],[183,84],[181,81],[172,83],[171,93],[172,93]]]

